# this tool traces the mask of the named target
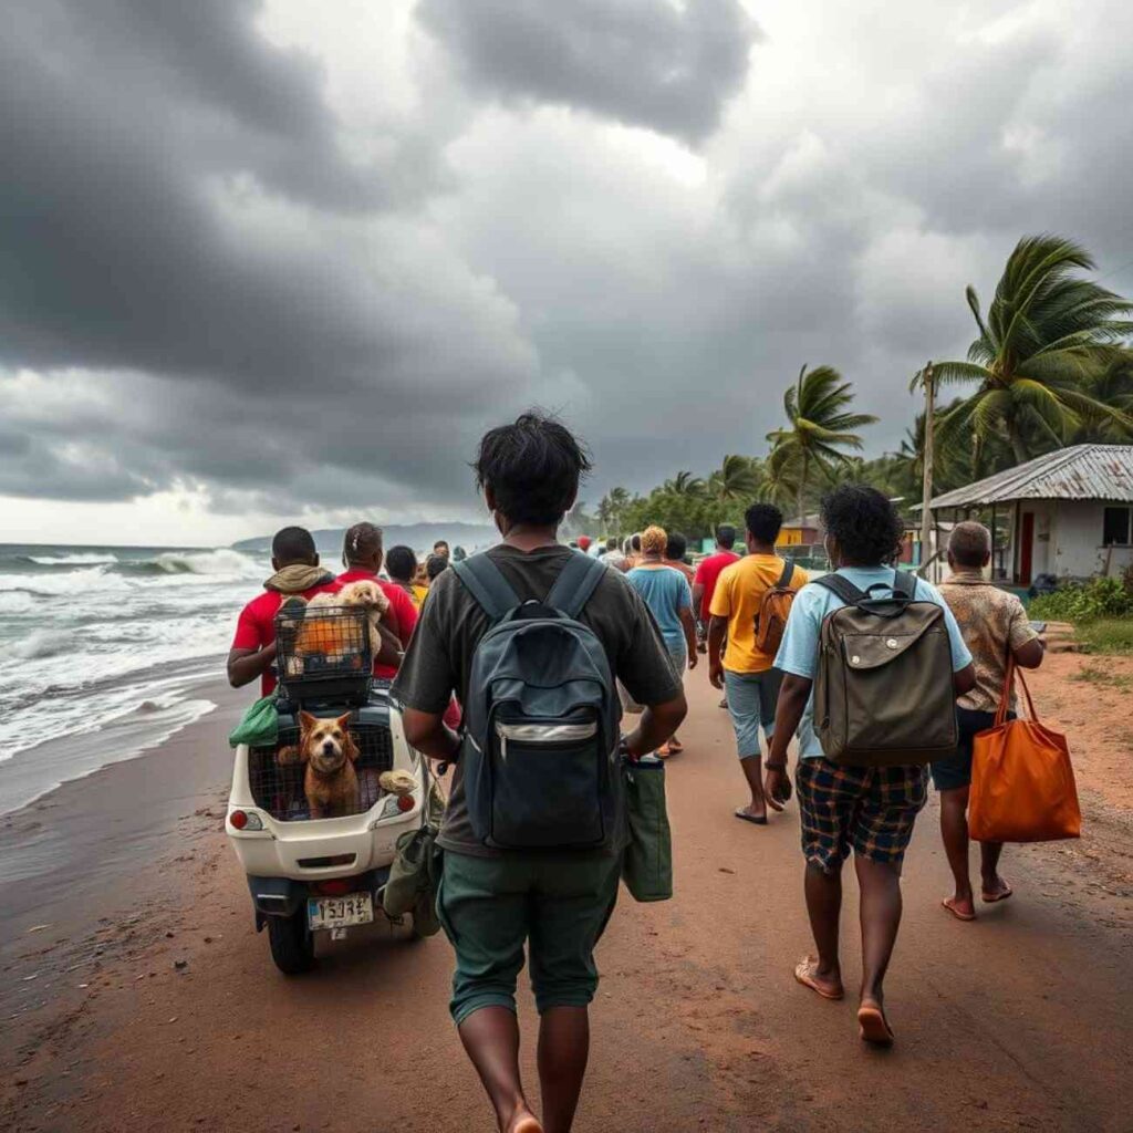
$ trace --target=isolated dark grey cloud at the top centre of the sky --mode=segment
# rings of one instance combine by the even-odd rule
[[[421,0],[468,82],[690,143],[742,86],[756,25],[738,0]]]

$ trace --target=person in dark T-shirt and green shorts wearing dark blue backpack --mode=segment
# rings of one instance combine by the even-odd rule
[[[568,1133],[589,1050],[594,947],[625,845],[621,755],[685,713],[648,610],[617,572],[556,542],[589,461],[525,414],[480,442],[476,476],[503,542],[433,583],[393,695],[406,738],[455,760],[437,912],[457,953],[451,1012],[502,1133]],[[645,705],[619,741],[615,679]],[[463,741],[444,726],[455,692]],[[543,1119],[519,1073],[523,945],[540,1015]]]

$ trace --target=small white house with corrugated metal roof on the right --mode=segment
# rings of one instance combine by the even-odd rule
[[[929,510],[937,525],[978,516],[989,523],[1002,581],[1116,574],[1133,564],[1133,445],[1057,449],[936,496]]]

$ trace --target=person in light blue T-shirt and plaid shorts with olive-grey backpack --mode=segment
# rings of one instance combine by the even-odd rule
[[[883,981],[901,923],[901,864],[927,795],[926,764],[956,742],[955,697],[972,656],[944,599],[895,571],[903,525],[876,488],[844,485],[821,504],[834,574],[795,598],[775,659],[783,670],[765,791],[785,801],[787,744],[799,732],[804,893],[817,956],[795,979],[844,995],[838,960],[842,864],[861,889],[859,1034],[888,1046]],[[813,695],[812,695],[813,690]]]

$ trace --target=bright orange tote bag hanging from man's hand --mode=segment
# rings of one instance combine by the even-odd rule
[[[1016,675],[1028,719],[1007,719]],[[1082,833],[1066,736],[1039,723],[1014,659],[1007,664],[995,726],[973,743],[968,828],[978,842],[1055,842]]]

